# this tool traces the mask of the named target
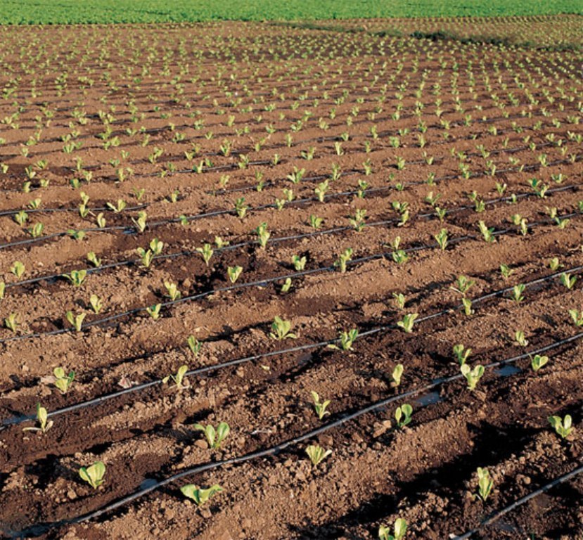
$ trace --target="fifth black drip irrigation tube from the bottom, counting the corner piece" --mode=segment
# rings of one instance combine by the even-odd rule
[[[367,192],[371,193],[371,192],[385,191],[386,189],[387,188],[371,188],[371,189],[367,190]],[[560,192],[569,191],[569,190],[577,191],[578,189],[579,189],[579,186],[577,184],[569,184],[567,186],[560,186],[558,188],[551,188],[548,191],[546,191],[546,193],[560,193]],[[536,195],[536,193],[518,193],[518,194],[515,193],[514,195],[517,199],[523,199],[523,198],[534,197]],[[512,200],[512,197],[499,197],[496,199],[484,200],[483,202],[485,203],[485,205],[494,205],[496,203],[504,203],[508,200]],[[451,210],[447,210],[447,215],[451,216],[451,214],[459,214],[461,212],[465,212],[466,210],[472,210],[472,209],[473,209],[473,205],[462,205],[462,206],[455,207]],[[435,212],[416,214],[413,218],[409,219],[409,222],[416,221],[417,219],[435,219],[435,217],[437,217],[435,215]],[[366,227],[385,226],[385,225],[389,225],[389,224],[393,224],[393,223],[399,223],[399,219],[392,218],[392,219],[384,219],[384,220],[380,220],[380,221],[369,221],[368,223],[366,223]],[[269,237],[269,239],[267,240],[267,243],[268,244],[276,244],[276,243],[286,242],[286,241],[302,240],[303,238],[314,238],[315,236],[327,236],[328,234],[341,233],[341,232],[345,232],[345,231],[354,231],[354,228],[351,226],[340,226],[340,227],[333,227],[332,229],[312,231],[309,233],[300,233],[300,234],[289,235],[289,236]],[[222,253],[224,251],[232,251],[232,250],[236,250],[238,248],[243,248],[245,246],[258,245],[258,244],[259,244],[258,240],[246,240],[245,242],[227,245],[224,248],[216,248],[216,249],[214,249],[214,252],[215,253]],[[179,252],[168,253],[166,255],[155,255],[155,257],[153,257],[153,260],[177,259],[179,257],[191,257],[193,255],[198,256],[198,255],[200,255],[200,253],[197,252],[196,250],[194,250],[194,251],[193,250],[183,250],[183,251],[179,251]],[[126,260],[126,261],[111,262],[109,264],[101,264],[101,266],[97,266],[97,267],[91,266],[88,268],[84,268],[84,270],[87,272],[87,274],[99,274],[103,270],[117,268],[120,266],[132,266],[134,264],[139,264],[140,262],[141,262],[141,259],[131,259],[131,260]],[[6,289],[16,287],[16,286],[21,286],[21,285],[29,285],[31,283],[39,283],[40,281],[52,281],[52,280],[55,280],[55,279],[60,278],[60,277],[63,277],[63,272],[61,272],[59,274],[48,274],[48,275],[44,275],[44,276],[37,276],[35,278],[29,278],[29,279],[25,279],[23,281],[15,281],[13,283],[6,283]]]

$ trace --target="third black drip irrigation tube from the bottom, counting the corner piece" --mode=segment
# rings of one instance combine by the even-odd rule
[[[553,274],[549,274],[549,276],[544,276],[542,278],[538,278],[536,280],[529,281],[527,283],[523,283],[523,285],[525,285],[526,288],[530,288],[533,285],[538,285],[539,283],[545,283],[546,281],[551,281],[552,279],[560,276],[563,273],[577,275],[581,271],[583,271],[583,266],[573,266],[570,269],[558,271],[558,272],[555,272]],[[482,295],[481,297],[473,299],[472,304],[478,304],[481,302],[485,302],[485,300],[489,300],[490,298],[502,296],[506,293],[511,292],[511,290],[513,290],[513,287],[506,287],[506,288],[496,290],[492,293],[487,293],[486,295]],[[426,321],[436,319],[437,317],[451,314],[454,311],[460,311],[461,309],[464,309],[463,304],[458,304],[455,307],[442,309],[440,311],[437,311],[434,314],[430,314],[430,315],[423,316],[423,317],[416,319],[416,324],[424,323]],[[364,332],[359,333],[357,335],[357,338],[355,338],[355,341],[361,340],[363,338],[367,338],[371,335],[376,335],[378,333],[385,332],[387,330],[396,330],[397,328],[399,328],[399,327],[397,326],[396,323],[390,323],[387,325],[378,326],[377,328],[372,328],[371,330],[366,330]],[[583,333],[580,335],[583,335]],[[579,336],[579,334],[577,336]],[[571,340],[575,340],[575,339],[577,339],[577,336],[575,338],[568,338],[568,340],[566,340],[565,342],[570,342]],[[297,345],[295,347],[288,347],[286,349],[278,349],[276,351],[265,352],[262,354],[254,354],[252,356],[244,356],[243,358],[228,360],[228,361],[222,362],[220,364],[214,364],[212,366],[203,366],[200,368],[195,368],[195,369],[189,370],[185,373],[185,376],[206,375],[207,373],[212,373],[213,371],[219,371],[219,370],[222,370],[225,368],[232,368],[234,366],[239,366],[241,364],[248,364],[250,362],[257,361],[260,359],[270,358],[271,356],[278,356],[281,354],[293,354],[295,352],[302,352],[302,351],[307,351],[307,350],[312,350],[312,349],[320,349],[321,347],[326,347],[328,345],[333,345],[333,344],[339,343],[339,342],[340,342],[339,339],[335,338],[332,340],[325,340],[325,341],[320,341],[320,342],[316,342],[316,343],[309,343],[306,345]],[[553,347],[550,347],[550,348],[553,348]],[[547,347],[547,348],[543,347],[542,349],[537,349],[537,352],[543,352],[544,350],[550,350],[550,349],[549,349],[549,347]],[[528,356],[528,353],[523,354],[522,356],[518,356],[518,357],[516,357],[516,359],[521,359],[521,358],[526,357],[526,356]],[[100,397],[96,397],[94,399],[89,399],[88,401],[82,401],[82,402],[79,402],[77,404],[65,406],[62,409],[56,409],[54,411],[49,412],[48,416],[49,416],[49,418],[52,418],[54,416],[59,416],[61,414],[68,413],[71,411],[77,411],[78,409],[84,409],[84,408],[87,408],[89,406],[98,405],[98,404],[103,403],[104,401],[108,401],[110,399],[115,399],[116,397],[120,397],[120,396],[123,396],[125,394],[131,394],[133,392],[140,392],[141,390],[146,390],[147,388],[158,386],[161,384],[162,384],[162,379],[149,381],[148,383],[141,383],[139,385],[134,385],[134,386],[129,387],[129,388],[124,388],[124,390],[118,390],[117,392],[112,392],[110,394],[104,394],[104,395],[102,395]],[[10,427],[11,425],[20,425],[21,423],[24,423],[25,421],[32,420],[32,419],[34,419],[34,416],[20,416],[20,417],[10,418],[7,420],[1,420],[0,421],[0,431],[5,430],[6,428]]]

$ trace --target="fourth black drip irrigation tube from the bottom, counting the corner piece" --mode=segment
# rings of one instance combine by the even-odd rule
[[[563,216],[563,219],[569,219],[575,216],[578,216],[578,213],[573,212],[572,214],[565,214]],[[532,229],[535,225],[545,225],[545,224],[549,224],[549,219],[545,220],[545,221],[535,221],[532,224],[527,224],[527,229],[530,230]],[[492,236],[501,236],[507,233],[513,232],[512,229],[502,229],[501,231],[495,231],[492,233]],[[475,239],[478,238],[475,235],[466,235],[466,236],[459,236],[458,238],[451,238],[451,240],[448,240],[448,244],[447,245],[454,245],[457,243],[460,243],[464,240],[470,240],[470,239]],[[439,245],[437,243],[435,244],[425,244],[425,245],[420,245],[420,246],[416,246],[414,248],[408,248],[406,250],[403,250],[406,253],[412,253],[412,252],[418,252],[418,251],[422,251],[422,250],[428,250],[428,249],[433,249],[439,247]],[[378,260],[378,259],[383,259],[384,257],[387,257],[388,255],[391,255],[392,251],[389,252],[381,252],[381,253],[376,253],[375,255],[366,255],[365,257],[359,257],[358,259],[352,259],[350,261],[346,262],[346,266],[354,266],[356,264],[361,264],[362,262],[369,262],[369,261],[373,261],[373,260]],[[257,281],[251,281],[248,283],[241,283],[239,285],[237,284],[233,284],[233,285],[229,285],[227,287],[220,287],[217,289],[212,289],[212,290],[207,290],[204,293],[197,293],[196,295],[190,295],[190,296],[184,296],[181,297],[177,300],[169,300],[168,302],[160,302],[160,308],[167,308],[167,307],[171,307],[177,304],[182,304],[184,302],[191,302],[192,300],[200,300],[201,298],[205,298],[208,297],[210,295],[214,295],[217,293],[226,293],[229,292],[231,290],[240,290],[243,288],[249,288],[249,287],[262,287],[264,285],[267,285],[268,283],[274,283],[276,281],[285,281],[286,279],[290,278],[298,278],[298,277],[303,277],[303,276],[309,276],[311,274],[320,274],[322,272],[329,272],[329,271],[335,271],[335,266],[321,266],[319,268],[314,268],[311,270],[304,270],[304,271],[300,271],[300,272],[293,272],[291,274],[286,274],[284,276],[274,276],[271,278],[263,278]],[[82,330],[87,329],[87,328],[91,328],[93,326],[101,326],[102,324],[105,323],[111,323],[113,321],[118,321],[119,319],[122,319],[126,316],[129,315],[135,315],[138,314],[141,311],[144,311],[144,307],[136,307],[133,309],[128,309],[127,311],[122,311],[121,313],[117,313],[117,314],[113,314],[110,315],[108,317],[104,317],[103,319],[96,319],[95,321],[91,321],[87,324],[84,324],[82,326]],[[15,341],[22,341],[22,340],[27,340],[27,339],[32,339],[32,338],[41,338],[41,337],[45,337],[45,336],[50,336],[50,335],[60,335],[60,334],[65,334],[65,333],[71,333],[74,332],[75,328],[60,328],[59,330],[51,330],[49,332],[37,332],[37,333],[30,333],[30,334],[23,334],[23,335],[16,335],[13,336],[12,338],[4,338],[2,340],[0,340],[0,345],[4,344],[4,343],[8,343],[8,342],[15,342]]]

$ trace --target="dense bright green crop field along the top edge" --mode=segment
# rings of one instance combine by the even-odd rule
[[[160,23],[583,13],[578,0],[0,0],[0,24]]]

